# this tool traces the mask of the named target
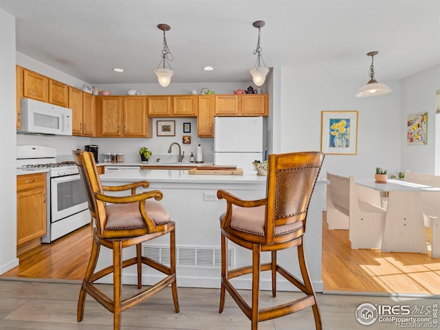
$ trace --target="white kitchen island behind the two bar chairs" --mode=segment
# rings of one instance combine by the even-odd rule
[[[101,175],[104,186],[117,186],[134,181],[147,180],[150,189],[159,189],[164,193],[161,203],[170,212],[171,219],[176,223],[177,245],[177,285],[181,287],[212,287],[220,285],[220,223],[219,216],[225,212],[225,200],[217,200],[217,190],[225,189],[241,199],[260,199],[265,197],[265,176],[255,172],[243,175],[190,175],[188,170],[118,170]],[[312,195],[305,234],[305,251],[309,262],[311,280],[316,292],[322,292],[321,279],[321,243],[322,243],[322,198],[327,180],[319,180]],[[138,192],[142,191],[141,189]],[[107,192],[109,193],[109,192]],[[123,195],[122,192],[112,192]],[[158,261],[169,258],[168,236],[159,237],[142,245],[142,254]],[[248,265],[252,258],[248,250],[230,243],[230,265]],[[124,250],[130,256],[132,250]],[[124,256],[126,258],[128,256]],[[270,260],[270,254],[263,254],[262,262]],[[300,277],[296,266],[295,249],[281,251],[278,260],[281,265]],[[111,252],[101,251],[98,268],[111,263]],[[155,283],[161,276],[153,270],[143,272],[145,285]],[[109,283],[112,278],[107,276],[102,282]],[[128,267],[123,273],[123,283],[136,283],[135,267]],[[251,278],[234,280],[243,289],[250,289]],[[263,272],[261,288],[270,289],[270,273]],[[291,285],[281,276],[278,278],[278,289],[292,290]]]

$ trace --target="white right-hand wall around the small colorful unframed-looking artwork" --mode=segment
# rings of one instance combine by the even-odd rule
[[[437,110],[436,91],[440,89],[440,64],[430,67],[413,76],[407,77],[402,83],[402,116],[401,116],[401,170],[417,173],[435,173],[435,112]],[[408,115],[428,112],[428,144],[406,144],[406,120]]]

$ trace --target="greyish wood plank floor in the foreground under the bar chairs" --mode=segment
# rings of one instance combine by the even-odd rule
[[[1,278],[0,278],[1,280]],[[53,281],[53,280],[52,280]],[[100,289],[111,296],[110,285]],[[133,285],[124,285],[124,294],[133,292]],[[79,283],[45,283],[33,280],[0,281],[0,329],[2,330],[111,330],[113,316],[95,300],[87,297],[85,316],[76,321],[76,304]],[[249,301],[249,292],[241,292]],[[227,295],[223,314],[219,314],[219,289],[179,287],[180,312],[173,309],[169,288],[122,313],[123,330],[250,330],[250,320],[245,317],[232,298]],[[282,303],[299,295],[279,292],[272,298],[262,292],[261,305]],[[410,308],[432,307],[436,300],[399,297],[366,297],[318,294],[318,304],[325,330],[395,329],[390,322],[375,322],[365,327],[355,319],[355,310],[363,303],[373,305],[409,305]],[[438,303],[438,302],[437,302]],[[282,318],[261,322],[259,330],[310,330],[315,329],[311,308]],[[418,327],[417,329],[424,329]]]

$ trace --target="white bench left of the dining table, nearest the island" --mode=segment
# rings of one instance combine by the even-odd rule
[[[355,184],[353,177],[327,172],[329,229],[348,229],[352,249],[380,249],[386,210],[380,192]]]

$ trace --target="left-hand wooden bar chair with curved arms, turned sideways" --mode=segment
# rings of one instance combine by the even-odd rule
[[[102,186],[94,155],[86,151],[72,151],[80,173],[91,217],[94,219],[94,239],[91,256],[85,273],[83,285],[78,298],[78,322],[83,320],[86,294],[113,313],[113,329],[121,329],[121,313],[157,292],[171,285],[174,308],[179,312],[177,300],[177,283],[175,273],[175,223],[170,215],[157,201],[163,195],[160,190],[136,193],[136,188],[148,188],[148,181],[139,181],[123,186]],[[131,192],[124,197],[105,195],[104,191]],[[151,201],[148,199],[155,199]],[[142,256],[141,244],[156,237],[170,234],[170,266],[162,265]],[[100,247],[104,246],[113,252],[113,264],[96,271]],[[123,260],[122,250],[135,246],[136,256]],[[161,281],[142,289],[142,264],[153,267],[166,276]],[[122,299],[122,269],[131,265],[137,267],[137,294]],[[94,282],[103,276],[113,273],[113,300],[104,294]],[[142,289],[142,290],[141,290]]]

